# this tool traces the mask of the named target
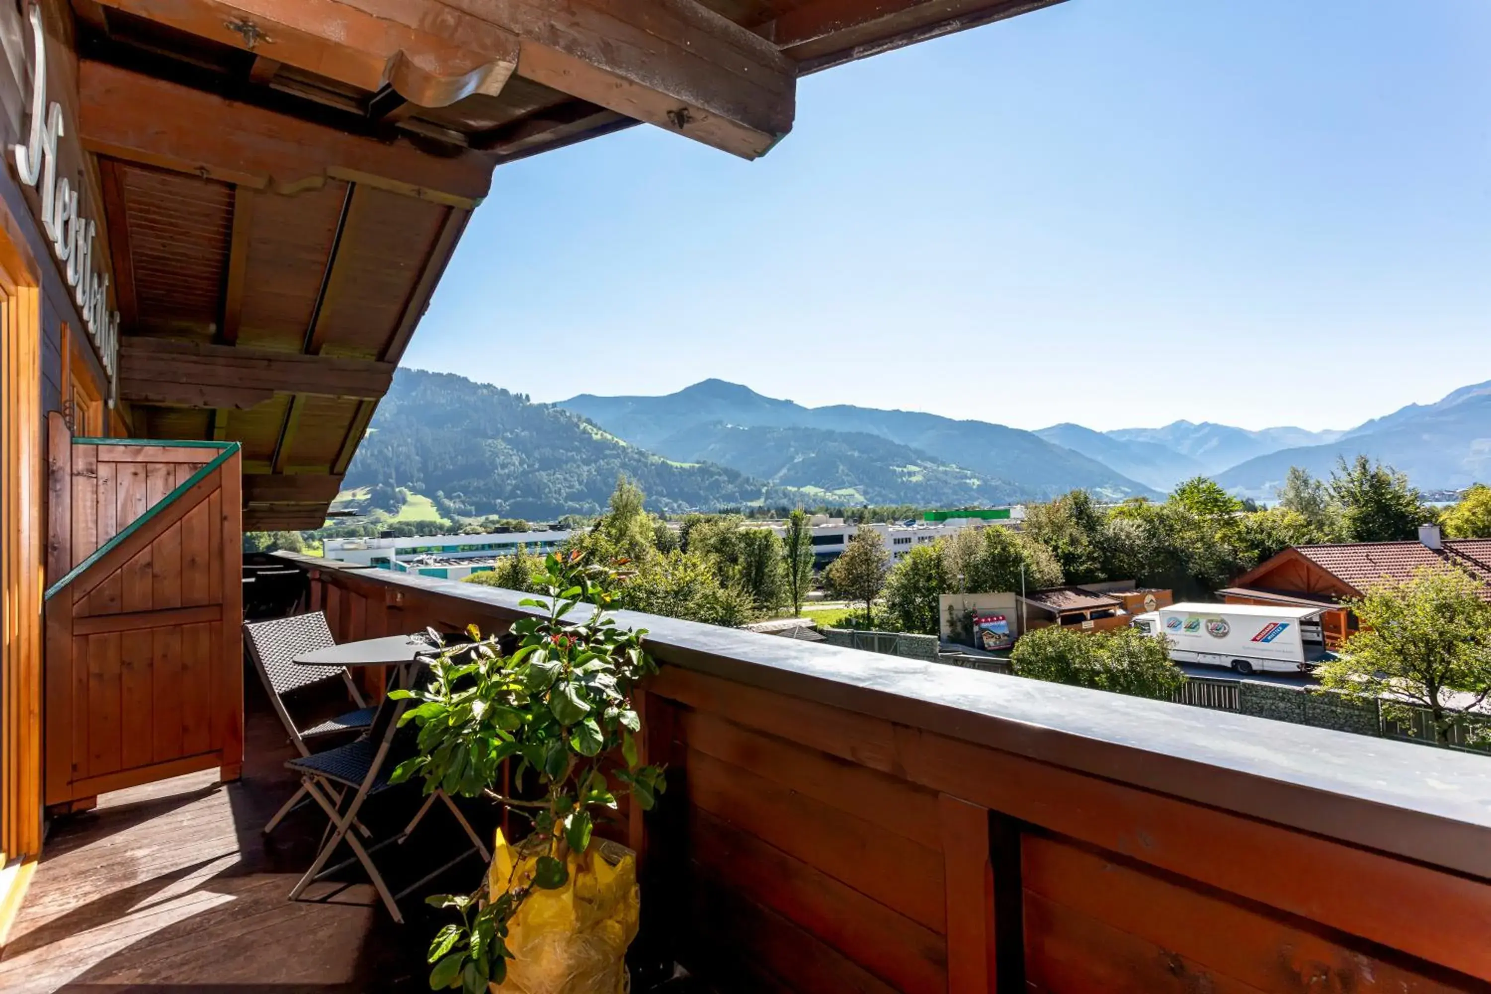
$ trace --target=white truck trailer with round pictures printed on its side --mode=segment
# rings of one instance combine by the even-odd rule
[[[1309,671],[1325,656],[1320,615],[1328,608],[1172,604],[1135,615],[1145,635],[1170,642],[1176,663],[1232,666],[1239,674]]]

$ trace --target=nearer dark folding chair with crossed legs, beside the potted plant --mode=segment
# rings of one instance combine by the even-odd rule
[[[413,756],[414,742],[417,732],[414,726],[410,724],[407,729],[398,727],[398,720],[404,714],[404,706],[407,700],[394,700],[389,697],[383,699],[383,703],[377,708],[377,715],[373,718],[373,726],[364,733],[358,741],[349,742],[347,745],[338,745],[335,748],[327,750],[325,753],[315,753],[312,756],[304,756],[301,759],[292,759],[285,763],[289,769],[298,770],[301,775],[301,790],[310,794],[310,797],[322,806],[327,817],[331,818],[331,838],[321,846],[321,852],[316,854],[316,861],[310,864],[306,875],[300,878],[295,888],[289,893],[289,899],[295,900],[301,893],[313,882],[319,881],[343,867],[350,866],[353,861],[362,863],[362,869],[368,872],[373,878],[373,887],[377,888],[379,897],[383,899],[383,905],[388,908],[388,914],[392,915],[394,921],[404,924],[404,917],[398,911],[398,899],[407,896],[410,891],[422,887],[423,884],[440,876],[452,866],[467,858],[473,852],[480,852],[483,860],[491,860],[492,854],[482,843],[480,836],[477,836],[476,829],[471,823],[465,820],[461,809],[456,808],[455,802],[443,790],[435,790],[425,803],[420,805],[419,811],[410,820],[409,826],[398,835],[383,839],[370,846],[364,846],[358,839],[356,833],[352,832],[353,827],[361,827],[358,823],[358,812],[362,809],[364,802],[368,797],[383,793],[392,784],[389,782],[389,775],[398,762]],[[400,732],[404,732],[400,735]],[[340,799],[328,796],[325,790],[327,784],[340,784],[347,788]],[[425,873],[422,878],[394,894],[389,891],[388,884],[383,882],[383,875],[379,873],[377,866],[373,863],[373,852],[377,852],[386,845],[403,843],[414,827],[423,820],[425,814],[434,805],[435,799],[444,802],[455,815],[456,821],[465,830],[467,838],[471,839],[471,848],[461,852],[461,855],[449,860],[447,863],[438,866],[437,869]],[[364,830],[364,835],[367,832]],[[322,869],[327,866],[327,860],[335,852],[341,842],[346,842],[352,848],[352,857],[337,863],[335,866]]]

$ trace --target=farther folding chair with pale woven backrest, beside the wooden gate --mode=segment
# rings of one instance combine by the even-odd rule
[[[259,680],[264,681],[264,688],[270,694],[274,714],[279,715],[280,724],[285,726],[291,742],[295,744],[301,756],[310,756],[310,747],[306,744],[306,739],[338,732],[361,732],[373,724],[373,714],[377,709],[367,706],[346,666],[330,669],[322,666],[297,666],[294,662],[297,656],[304,656],[312,650],[335,645],[335,639],[331,638],[331,629],[327,627],[327,615],[321,611],[274,618],[273,621],[250,621],[243,626],[243,644],[249,650],[253,668],[259,671]],[[285,694],[304,687],[325,684],[338,677],[346,684],[352,699],[358,702],[359,709],[337,715],[330,721],[322,721],[309,729],[297,726],[289,709],[285,706]],[[340,794],[340,791],[335,793]],[[306,788],[301,785],[295,791],[295,796],[274,812],[274,817],[264,826],[264,833],[268,835],[273,832],[285,815],[300,805],[304,797]]]

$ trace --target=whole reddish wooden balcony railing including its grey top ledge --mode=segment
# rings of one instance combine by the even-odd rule
[[[297,557],[338,639],[520,595]],[[644,937],[720,990],[1470,991],[1491,765],[644,615]]]

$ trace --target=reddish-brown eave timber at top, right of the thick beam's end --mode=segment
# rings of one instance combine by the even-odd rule
[[[816,73],[1063,0],[808,0],[757,27],[799,73]]]

